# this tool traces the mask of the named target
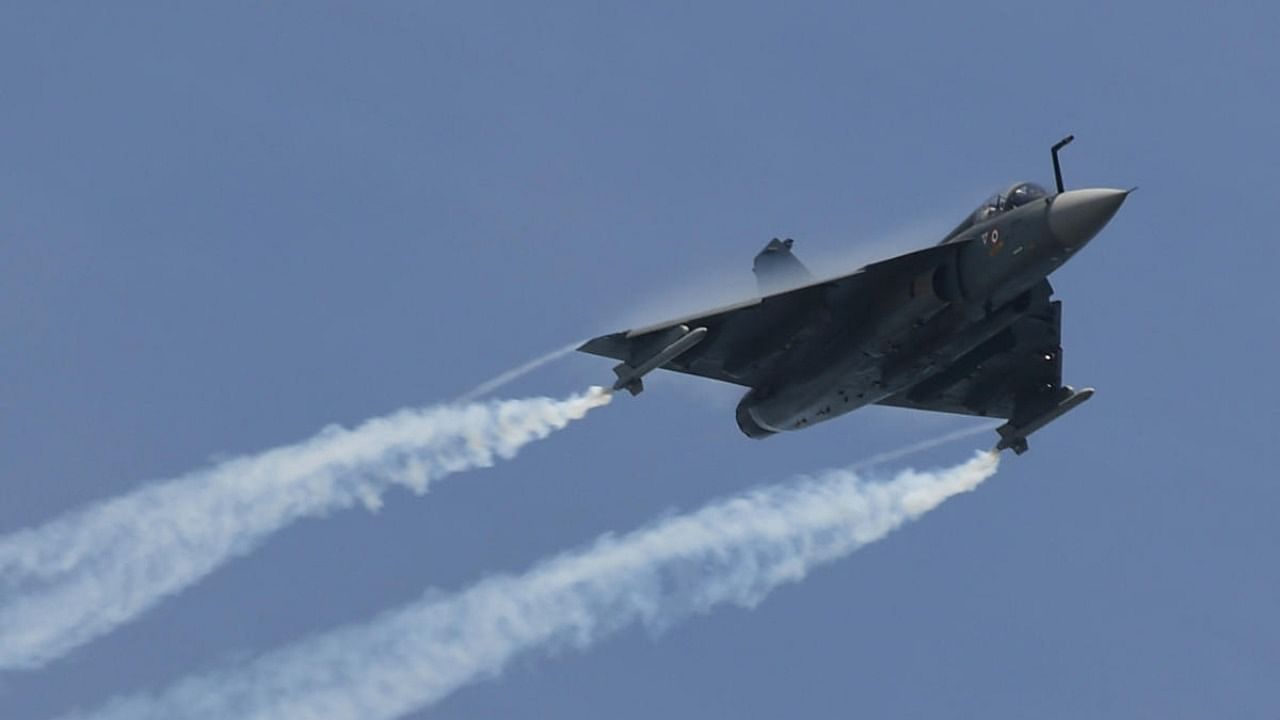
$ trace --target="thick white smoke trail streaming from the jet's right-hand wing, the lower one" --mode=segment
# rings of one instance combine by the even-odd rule
[[[79,717],[398,717],[497,675],[521,652],[585,648],[632,623],[660,629],[723,603],[751,607],[974,489],[997,462],[980,452],[884,483],[838,470],[756,489]]]

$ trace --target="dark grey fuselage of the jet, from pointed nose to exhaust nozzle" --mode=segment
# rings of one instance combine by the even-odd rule
[[[818,324],[742,398],[742,432],[801,429],[927,383],[1021,318],[1030,293],[1097,234],[1124,196],[1074,190],[977,219],[942,241],[955,247],[942,265],[876,292],[828,297]],[[1044,348],[1046,361],[1057,352]]]

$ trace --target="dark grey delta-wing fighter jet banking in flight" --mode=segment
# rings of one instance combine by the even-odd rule
[[[1048,275],[1075,256],[1126,190],[1057,192],[1016,183],[934,246],[814,279],[773,240],[755,256],[760,296],[591,340],[613,357],[613,389],[639,395],[655,369],[749,388],[737,425],[750,438],[800,430],[867,405],[1007,420],[997,450],[1027,451],[1036,430],[1092,388],[1062,384],[1062,304]]]

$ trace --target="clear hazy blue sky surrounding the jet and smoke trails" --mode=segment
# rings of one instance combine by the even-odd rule
[[[425,715],[1280,714],[1276,4],[123,5],[0,10],[0,533],[694,309],[774,236],[832,266],[936,242],[1051,184],[1074,132],[1070,187],[1140,186],[1053,277],[1091,404],[756,610],[530,656]],[[502,395],[609,378],[571,357]],[[972,424],[870,409],[751,442],[732,388],[649,387],[289,528],[0,676],[0,716]]]

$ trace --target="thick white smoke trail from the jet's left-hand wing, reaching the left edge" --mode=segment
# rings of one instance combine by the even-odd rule
[[[611,395],[402,410],[0,537],[0,669],[40,667],[302,518],[493,465]]]

